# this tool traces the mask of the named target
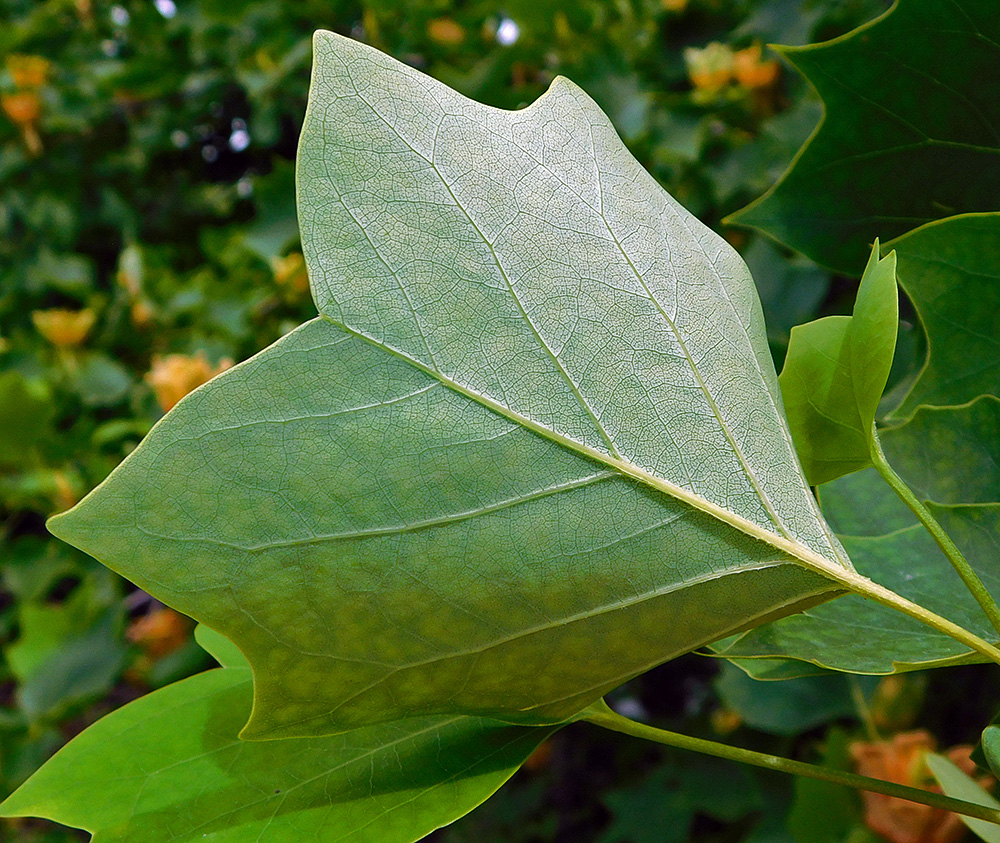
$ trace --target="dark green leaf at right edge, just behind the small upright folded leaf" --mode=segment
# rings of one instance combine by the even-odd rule
[[[893,417],[908,418],[921,404],[1000,397],[1000,214],[931,223],[890,247],[927,333],[927,361]]]

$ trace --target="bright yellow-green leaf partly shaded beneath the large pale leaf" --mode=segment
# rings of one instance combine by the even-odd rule
[[[99,720],[0,805],[94,843],[410,843],[472,810],[551,729],[418,718],[245,743],[245,668],[201,673]]]

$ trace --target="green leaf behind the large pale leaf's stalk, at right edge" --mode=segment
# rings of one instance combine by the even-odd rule
[[[820,498],[860,573],[985,638],[995,637],[930,534],[874,469],[824,486]],[[1000,505],[929,507],[990,592],[1000,596]],[[847,534],[845,528],[857,533]],[[751,675],[756,675],[756,658],[765,668],[771,659],[786,657],[870,674],[982,660],[929,627],[854,595],[751,630],[721,652],[739,657],[738,665]]]

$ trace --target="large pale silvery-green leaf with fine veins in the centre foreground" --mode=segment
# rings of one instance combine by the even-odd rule
[[[315,46],[298,191],[321,317],[52,521],[239,646],[245,736],[559,721],[832,596],[817,570],[855,576],[745,266],[586,94],[498,111]]]

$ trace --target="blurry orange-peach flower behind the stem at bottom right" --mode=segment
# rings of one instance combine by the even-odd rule
[[[940,793],[924,765],[924,754],[933,752],[936,746],[932,735],[918,730],[898,734],[891,741],[854,743],[850,752],[864,776]],[[956,746],[946,755],[971,775],[976,769],[969,758],[971,752],[971,747]],[[985,786],[989,781],[980,780],[980,784]],[[957,843],[965,834],[958,816],[940,808],[881,793],[863,792],[862,799],[865,825],[889,843]]]

